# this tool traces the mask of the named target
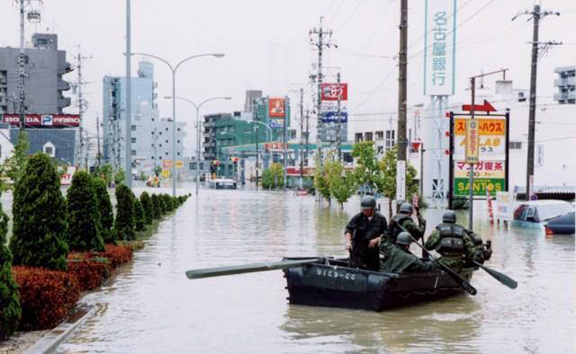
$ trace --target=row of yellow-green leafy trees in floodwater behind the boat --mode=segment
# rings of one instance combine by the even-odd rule
[[[375,190],[386,196],[392,213],[392,199],[396,198],[396,163],[398,150],[394,146],[378,160],[374,151],[374,142],[365,141],[355,144],[352,156],[356,158],[356,168],[345,171],[343,164],[327,156],[320,168],[316,169],[314,186],[327,200],[336,199],[343,208],[344,202],[358,188]],[[318,164],[317,164],[318,165]],[[406,166],[406,195],[418,192],[416,169],[409,163]]]

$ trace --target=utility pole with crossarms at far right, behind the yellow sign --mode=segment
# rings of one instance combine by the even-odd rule
[[[535,133],[536,133],[536,75],[537,75],[537,66],[538,66],[538,49],[542,43],[538,42],[538,31],[539,31],[539,24],[540,20],[543,19],[545,16],[549,14],[555,14],[560,16],[560,13],[553,12],[549,10],[545,10],[544,12],[540,11],[540,5],[534,5],[534,11],[528,12],[525,11],[524,13],[518,13],[516,16],[512,18],[514,21],[520,14],[529,14],[532,16],[532,20],[534,20],[534,27],[532,31],[532,64],[530,68],[530,111],[528,115],[528,156],[527,156],[527,174],[526,174],[526,199],[530,199],[531,193],[531,180],[534,179],[534,141],[535,141]],[[529,20],[529,19],[528,19]],[[548,42],[545,43],[547,45],[551,44],[562,44],[562,43],[554,43]]]

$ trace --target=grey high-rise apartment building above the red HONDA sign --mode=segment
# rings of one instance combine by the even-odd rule
[[[0,48],[0,113],[18,113],[20,49]],[[34,114],[62,114],[70,105],[63,93],[70,84],[62,79],[72,71],[66,61],[66,50],[58,50],[58,35],[35,33],[32,47],[24,49],[26,81],[24,83],[25,111]]]

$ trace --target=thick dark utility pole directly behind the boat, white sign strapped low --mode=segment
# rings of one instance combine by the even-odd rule
[[[406,198],[406,183],[401,183],[406,175],[406,108],[408,98],[406,96],[407,79],[407,42],[408,42],[408,0],[401,0],[400,14],[400,51],[399,75],[398,75],[398,165],[396,167],[397,192],[396,203],[403,202]]]

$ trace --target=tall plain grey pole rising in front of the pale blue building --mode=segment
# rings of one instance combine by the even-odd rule
[[[130,49],[130,0],[126,0],[126,185],[132,189],[132,87],[130,83],[131,69],[130,60],[132,53]],[[173,161],[175,164],[175,162]]]

